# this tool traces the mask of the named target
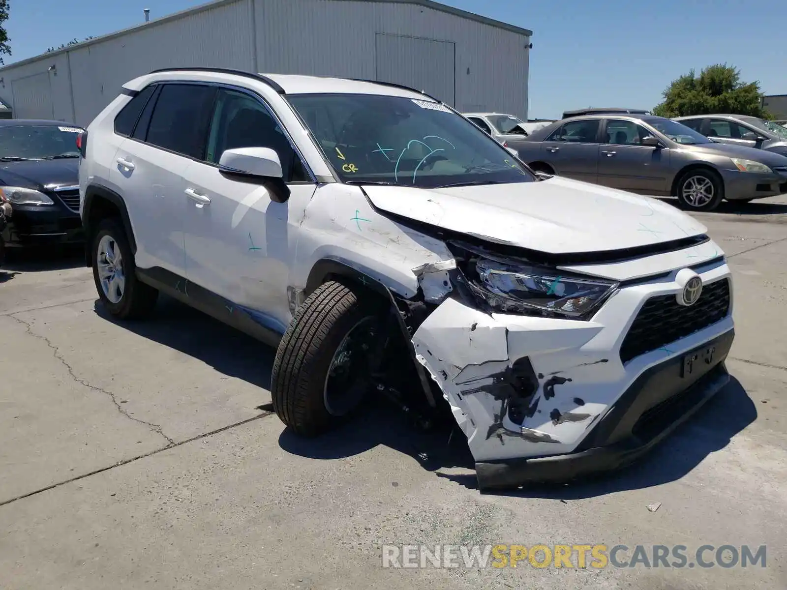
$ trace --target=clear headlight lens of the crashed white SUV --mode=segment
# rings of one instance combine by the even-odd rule
[[[480,258],[475,261],[475,292],[500,312],[580,318],[613,292],[618,283],[563,275],[556,269]]]

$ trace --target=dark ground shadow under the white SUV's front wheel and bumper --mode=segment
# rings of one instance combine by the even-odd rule
[[[705,457],[726,447],[730,439],[754,422],[755,404],[737,379],[706,404],[689,422],[626,469],[600,474],[571,484],[529,485],[525,488],[486,492],[499,496],[580,500],[630,489],[644,489],[676,481],[689,474]],[[478,489],[475,474],[447,474],[442,469],[472,469],[473,459],[464,435],[449,425],[430,432],[410,426],[403,415],[384,402],[370,402],[363,415],[316,439],[297,437],[284,430],[279,446],[310,459],[341,459],[378,445],[410,455],[440,478],[468,489]]]

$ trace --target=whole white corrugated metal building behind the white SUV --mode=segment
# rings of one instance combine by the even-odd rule
[[[218,0],[0,68],[0,101],[87,125],[127,80],[201,66],[376,79],[527,120],[530,35],[431,0]]]

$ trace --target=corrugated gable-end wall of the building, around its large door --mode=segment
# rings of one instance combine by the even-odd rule
[[[394,2],[255,0],[255,13],[260,71],[374,79],[377,33],[449,41],[456,44],[456,109],[527,119],[526,35]],[[432,56],[423,61],[441,76]]]

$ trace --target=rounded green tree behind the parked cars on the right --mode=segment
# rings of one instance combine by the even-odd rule
[[[769,118],[763,109],[759,82],[741,82],[741,72],[726,64],[709,65],[695,76],[694,70],[674,79],[664,90],[664,101],[653,113],[674,117],[729,112]]]

